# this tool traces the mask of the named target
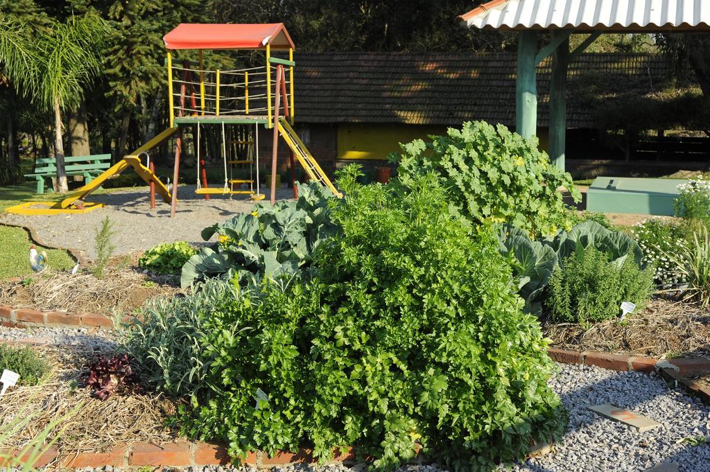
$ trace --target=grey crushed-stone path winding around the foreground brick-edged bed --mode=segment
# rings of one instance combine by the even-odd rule
[[[84,328],[0,328],[0,340],[37,338],[69,344],[87,351],[110,351],[116,346],[114,331]],[[605,369],[559,364],[550,386],[562,397],[569,411],[567,433],[552,452],[513,466],[517,472],[643,472],[660,463],[677,463],[679,472],[710,472],[710,407],[668,388],[657,375],[615,372]],[[591,405],[613,403],[662,423],[637,432],[597,415]],[[703,439],[706,438],[706,439]],[[90,469],[89,469],[90,470]],[[96,471],[103,469],[96,469]],[[118,468],[112,468],[118,471]],[[178,470],[178,469],[176,469]],[[251,471],[244,468],[187,468],[187,472]],[[361,466],[288,466],[280,472],[361,471]],[[400,472],[437,472],[435,465],[406,466]],[[510,470],[501,468],[503,470]]]

